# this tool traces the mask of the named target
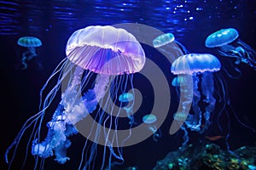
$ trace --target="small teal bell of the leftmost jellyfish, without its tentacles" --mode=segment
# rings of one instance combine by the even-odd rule
[[[42,45],[42,42],[37,37],[20,37],[17,43],[26,48],[36,48]]]

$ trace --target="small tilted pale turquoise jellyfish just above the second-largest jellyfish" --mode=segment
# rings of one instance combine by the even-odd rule
[[[170,56],[172,61],[176,59],[175,56],[189,54],[187,48],[185,48],[181,42],[177,42],[172,33],[166,33],[154,38],[153,46],[159,49],[163,54],[167,54],[166,56]]]

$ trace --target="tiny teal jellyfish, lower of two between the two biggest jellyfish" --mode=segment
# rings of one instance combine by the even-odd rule
[[[157,118],[152,113],[143,116],[143,122],[148,124],[148,129],[150,131],[152,131],[153,139],[154,139],[155,142],[157,142],[158,139],[162,136],[162,133],[161,133],[160,129],[158,129],[157,127],[154,126],[154,122],[156,122],[156,121],[157,121]]]

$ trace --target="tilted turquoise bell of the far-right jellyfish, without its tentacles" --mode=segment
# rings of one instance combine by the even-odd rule
[[[216,48],[219,46],[224,46],[230,42],[234,42],[238,36],[238,31],[236,31],[235,28],[227,28],[215,31],[207,37],[205,42],[206,47]]]

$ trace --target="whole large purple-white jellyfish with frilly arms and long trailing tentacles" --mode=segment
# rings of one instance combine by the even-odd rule
[[[88,26],[73,32],[69,37],[66,54],[67,58],[63,59],[56,67],[41,90],[40,111],[26,121],[14,142],[6,150],[5,158],[9,162],[9,168],[14,165],[20,139],[29,127],[32,128],[32,131],[29,133],[31,138],[28,145],[32,139],[31,152],[36,158],[34,168],[44,167],[44,158],[54,155],[55,161],[61,164],[65,163],[69,160],[67,157],[67,148],[71,145],[69,137],[78,133],[80,129],[78,130],[77,123],[81,122],[83,118],[90,117],[89,114],[94,114],[98,123],[93,123],[91,127],[83,125],[89,128],[90,135],[94,138],[91,139],[90,135],[86,136],[79,168],[96,168],[94,161],[97,156],[97,142],[100,142],[100,133],[103,133],[105,137],[102,144],[104,150],[101,169],[105,166],[105,156],[108,152],[110,153],[107,161],[108,167],[111,167],[109,165],[112,163],[113,157],[117,161],[123,161],[121,149],[113,145],[118,138],[116,131],[114,131],[115,135],[108,135],[110,133],[108,129],[118,128],[121,108],[114,113],[113,105],[110,103],[116,100],[116,96],[125,93],[127,88],[132,88],[133,73],[141,71],[145,63],[142,46],[131,33],[124,29],[117,29],[113,26]],[[45,91],[49,89],[49,82],[54,81],[55,77],[57,82],[47,94]],[[58,96],[60,91],[61,96]],[[52,112],[50,108],[53,107],[55,100],[60,102]],[[47,123],[49,128],[47,136],[43,139],[42,122],[50,112],[53,115]],[[96,130],[100,126],[106,127],[104,132]],[[94,135],[92,134],[93,130],[96,130]],[[88,139],[94,143],[88,144]],[[121,147],[121,144],[118,146]],[[12,148],[14,148],[13,156],[9,159],[9,152]],[[42,159],[39,159],[40,157]],[[25,162],[26,156],[24,156],[23,165]]]

